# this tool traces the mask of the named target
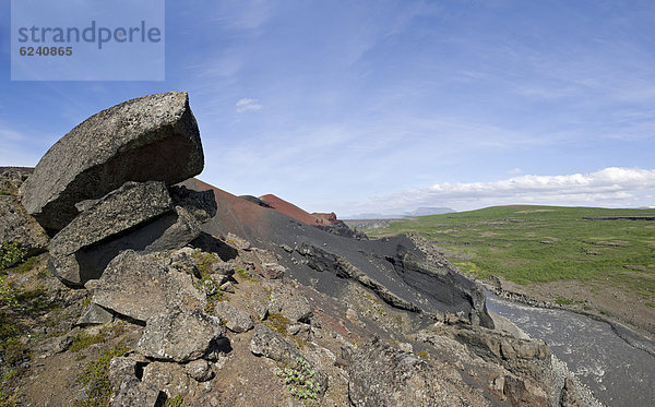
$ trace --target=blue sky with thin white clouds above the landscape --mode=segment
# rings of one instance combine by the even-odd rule
[[[235,194],[340,216],[655,205],[652,1],[167,1],[164,82],[12,82],[10,23],[0,0],[0,165],[188,91],[200,178]]]

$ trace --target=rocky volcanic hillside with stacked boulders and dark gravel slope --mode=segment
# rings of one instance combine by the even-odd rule
[[[47,249],[74,315],[34,328],[25,405],[93,397],[66,355],[97,332],[127,346],[111,406],[583,405],[548,346],[490,315],[420,238],[307,225],[193,179],[203,166],[188,95],[165,93],[91,117],[32,173],[2,173],[21,187],[0,196],[0,239]],[[39,396],[56,378],[66,388]]]

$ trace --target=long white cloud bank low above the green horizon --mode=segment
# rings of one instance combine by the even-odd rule
[[[377,196],[359,210],[402,213],[419,206],[471,210],[507,204],[646,205],[655,190],[655,169],[608,167],[596,172],[563,176],[525,175],[493,182],[441,182]]]

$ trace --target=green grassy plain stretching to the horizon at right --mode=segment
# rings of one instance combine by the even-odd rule
[[[602,280],[655,307],[655,222],[583,219],[616,216],[655,217],[655,210],[495,206],[394,222],[366,232],[419,232],[451,250],[450,260],[477,278]]]

